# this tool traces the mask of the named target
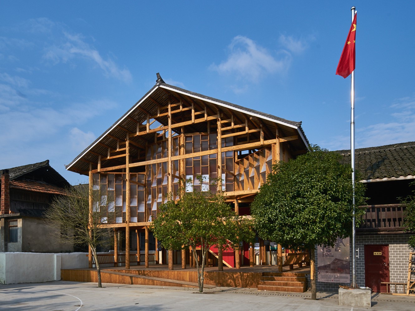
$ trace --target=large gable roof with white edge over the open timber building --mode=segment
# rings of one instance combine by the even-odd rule
[[[254,109],[245,108],[237,104],[218,100],[213,97],[208,97],[196,92],[184,90],[180,87],[169,85],[159,77],[151,90],[149,90],[134,106],[132,106],[125,114],[122,115],[110,128],[108,128],[103,134],[101,134],[93,143],[90,144],[84,151],[82,151],[74,160],[66,165],[67,170],[72,170],[81,174],[85,174],[88,171],[89,163],[98,163],[98,154],[105,155],[107,153],[107,146],[112,149],[117,148],[117,140],[125,141],[126,132],[136,132],[137,122],[141,123],[147,117],[147,114],[153,116],[157,115],[157,109],[162,106],[165,107],[168,101],[171,103],[178,102],[195,102],[200,106],[206,106],[212,112],[216,112],[219,107],[224,114],[235,115],[236,118],[241,120],[251,119],[252,122],[260,121],[264,126],[274,126],[278,124],[281,129],[280,135],[293,136],[298,135],[299,139],[291,141],[294,151],[304,150],[308,148],[308,140],[301,128],[301,122],[290,121],[282,119],[271,114],[259,112]],[[157,122],[163,125],[168,124],[168,116],[160,116],[157,118]],[[193,132],[206,131],[205,124],[192,124]],[[174,130],[174,129],[173,129]],[[283,136],[281,136],[283,137]],[[135,145],[136,149],[140,149],[139,146],[146,144],[146,141],[154,141],[154,134],[144,134],[131,138],[131,142]],[[144,148],[141,148],[142,150]],[[134,152],[130,151],[134,156]],[[139,152],[139,151],[138,151]],[[106,162],[108,166],[116,165],[115,161],[108,160]]]

